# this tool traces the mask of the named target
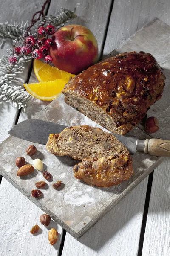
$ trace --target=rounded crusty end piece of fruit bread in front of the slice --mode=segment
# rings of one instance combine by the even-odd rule
[[[89,185],[110,187],[133,175],[130,155],[84,159],[74,166],[74,177]]]

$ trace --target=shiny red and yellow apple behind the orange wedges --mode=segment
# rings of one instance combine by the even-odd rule
[[[88,28],[64,26],[54,33],[52,39],[55,44],[50,47],[50,55],[60,70],[77,75],[96,63],[97,40]]]

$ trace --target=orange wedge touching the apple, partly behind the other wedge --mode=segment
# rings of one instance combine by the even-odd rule
[[[75,76],[68,72],[59,70],[57,67],[52,67],[49,64],[46,64],[42,61],[38,61],[35,59],[34,59],[34,73],[39,82],[48,82],[48,81],[54,81],[57,79],[65,79],[65,78],[69,80],[70,77]]]

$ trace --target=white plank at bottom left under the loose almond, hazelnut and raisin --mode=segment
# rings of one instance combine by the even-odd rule
[[[48,227],[43,226],[39,218],[44,212],[5,179],[0,186],[0,203],[0,256],[58,255],[62,228],[54,221]],[[35,224],[40,226],[36,236],[29,232]],[[51,227],[59,233],[55,246],[48,242],[48,230]]]

